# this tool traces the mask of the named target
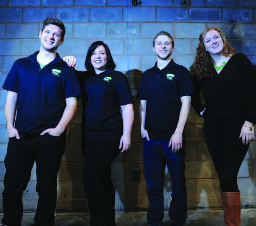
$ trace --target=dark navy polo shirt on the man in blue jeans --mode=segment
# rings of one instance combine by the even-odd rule
[[[143,73],[137,98],[147,101],[145,129],[154,140],[170,139],[178,124],[181,97],[193,94],[194,87],[187,68],[171,60],[162,70]]]

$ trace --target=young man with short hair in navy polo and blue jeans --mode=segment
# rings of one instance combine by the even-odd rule
[[[162,225],[166,163],[172,181],[171,226],[182,226],[187,219],[184,128],[194,88],[189,71],[172,60],[174,39],[168,32],[161,31],[156,35],[153,51],[157,62],[143,73],[137,95],[140,99],[143,162],[149,187],[147,225]]]

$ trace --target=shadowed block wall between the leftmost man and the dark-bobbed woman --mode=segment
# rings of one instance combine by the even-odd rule
[[[82,105],[67,129],[65,154],[58,174],[56,212],[89,212],[82,183],[83,155],[81,147]]]

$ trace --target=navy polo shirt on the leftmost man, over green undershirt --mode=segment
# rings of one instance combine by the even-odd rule
[[[18,94],[15,128],[21,138],[55,128],[66,107],[65,99],[80,95],[74,68],[56,54],[41,69],[36,60],[38,53],[16,60],[3,85],[3,89]]]

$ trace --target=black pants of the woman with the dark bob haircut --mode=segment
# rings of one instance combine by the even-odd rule
[[[83,183],[92,221],[114,217],[115,191],[111,163],[120,152],[120,141],[86,140]],[[113,219],[114,220],[114,219]]]

